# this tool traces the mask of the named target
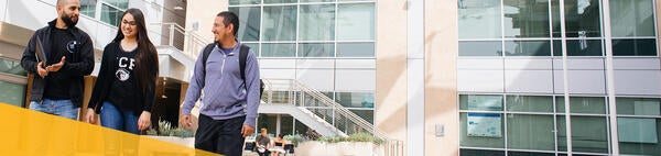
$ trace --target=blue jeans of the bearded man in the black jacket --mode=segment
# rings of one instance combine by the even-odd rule
[[[78,119],[78,108],[74,107],[72,100],[51,100],[45,98],[42,100],[41,103],[30,101],[30,109],[72,120]]]

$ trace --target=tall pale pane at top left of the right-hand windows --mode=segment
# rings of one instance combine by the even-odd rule
[[[500,0],[459,0],[459,38],[500,38]]]

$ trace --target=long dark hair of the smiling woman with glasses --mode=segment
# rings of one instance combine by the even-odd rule
[[[142,14],[142,11],[140,11],[140,9],[131,8],[128,9],[121,18],[123,19],[127,14],[133,15],[133,20],[136,20],[136,25],[138,26],[138,35],[136,36],[136,40],[138,41],[138,51],[136,53],[137,64],[133,74],[138,78],[138,86],[140,86],[142,92],[147,94],[150,85],[153,85],[154,87],[151,88],[151,90],[155,90],[156,78],[159,76],[159,54],[156,47],[154,47],[154,44],[152,44],[147,35],[147,26],[144,25],[144,15]],[[117,36],[115,36],[112,42],[121,44],[123,37],[120,25],[117,30]]]

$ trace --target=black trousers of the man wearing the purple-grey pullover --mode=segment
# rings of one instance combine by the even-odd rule
[[[227,120],[214,120],[199,114],[195,148],[227,156],[240,156],[243,152],[241,129],[246,116]]]

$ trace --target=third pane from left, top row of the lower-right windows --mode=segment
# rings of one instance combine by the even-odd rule
[[[564,98],[555,97],[557,113],[564,113]],[[572,113],[606,114],[606,100],[603,97],[570,97]]]

